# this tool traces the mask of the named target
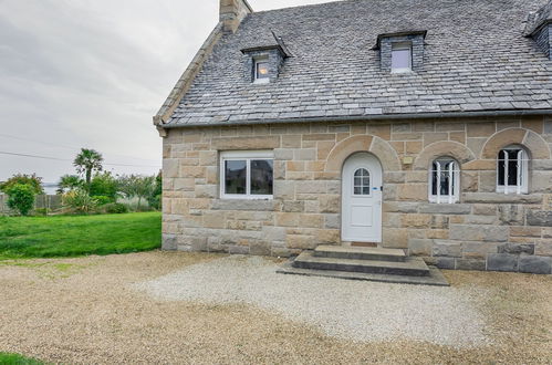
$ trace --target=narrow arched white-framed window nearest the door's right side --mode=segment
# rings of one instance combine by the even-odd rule
[[[460,196],[460,168],[450,157],[439,157],[429,171],[429,201],[455,204]]]

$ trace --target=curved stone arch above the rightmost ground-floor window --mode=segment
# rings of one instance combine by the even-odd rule
[[[500,149],[509,145],[521,145],[531,153],[532,159],[550,159],[546,142],[537,133],[523,128],[509,128],[492,135],[483,146],[482,159],[494,159]]]

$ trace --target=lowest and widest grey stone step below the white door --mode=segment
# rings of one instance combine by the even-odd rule
[[[429,267],[428,269],[429,269],[429,275],[427,277],[388,275],[388,274],[377,274],[377,273],[366,273],[366,272],[301,269],[301,268],[294,268],[293,261],[290,260],[283,263],[280,267],[280,269],[277,270],[277,273],[304,275],[304,277],[345,279],[345,280],[375,281],[375,282],[394,283],[394,284],[450,286],[447,279],[445,279],[439,269],[435,267]]]

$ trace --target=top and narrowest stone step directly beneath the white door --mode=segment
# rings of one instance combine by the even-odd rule
[[[406,254],[398,249],[383,249],[377,247],[344,247],[321,244],[314,249],[313,255],[319,258],[335,258],[350,260],[374,260],[405,262]]]

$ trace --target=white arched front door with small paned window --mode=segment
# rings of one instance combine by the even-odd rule
[[[368,153],[345,160],[342,176],[342,240],[382,242],[382,165]]]

